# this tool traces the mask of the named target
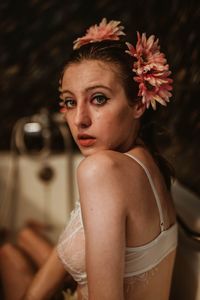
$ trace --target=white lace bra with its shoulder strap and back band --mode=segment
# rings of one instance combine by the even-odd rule
[[[127,154],[129,155],[129,154]],[[137,158],[136,160],[144,169],[152,187],[160,215],[160,234],[151,242],[138,247],[126,247],[125,249],[125,273],[124,280],[132,277],[139,278],[145,272],[156,267],[177,246],[177,224],[164,230],[163,214],[160,200],[150,173]],[[66,270],[73,276],[75,281],[82,287],[83,299],[87,299],[87,274],[85,267],[85,236],[82,222],[81,206],[76,202],[71,212],[70,220],[60,236],[57,246],[58,256]],[[139,276],[139,277],[138,277]],[[129,280],[130,281],[130,280]]]

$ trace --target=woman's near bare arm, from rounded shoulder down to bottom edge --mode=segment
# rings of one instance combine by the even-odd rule
[[[89,300],[122,300],[126,201],[120,166],[112,153],[103,151],[83,160],[78,185]]]

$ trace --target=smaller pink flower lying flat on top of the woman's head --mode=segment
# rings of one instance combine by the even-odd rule
[[[107,23],[106,18],[103,18],[99,25],[91,26],[86,35],[74,41],[73,49],[78,49],[81,46],[99,42],[103,40],[119,40],[120,35],[125,35],[124,27],[120,25],[120,21],[110,21]]]

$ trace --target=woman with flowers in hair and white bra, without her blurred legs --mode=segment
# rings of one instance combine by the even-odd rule
[[[62,73],[62,112],[85,157],[80,202],[24,299],[49,299],[65,270],[80,299],[169,299],[177,225],[170,169],[149,125],[172,80],[154,36],[138,33],[134,47],[124,35],[103,19],[74,42]]]

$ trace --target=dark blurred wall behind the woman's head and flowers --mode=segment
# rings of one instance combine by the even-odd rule
[[[58,111],[58,78],[72,41],[102,17],[121,20],[128,39],[155,34],[174,79],[162,151],[177,177],[200,195],[200,2],[198,0],[7,0],[0,3],[0,150],[13,125],[42,107]]]

